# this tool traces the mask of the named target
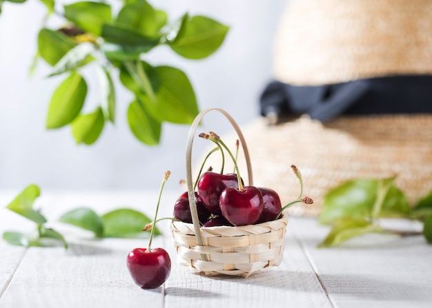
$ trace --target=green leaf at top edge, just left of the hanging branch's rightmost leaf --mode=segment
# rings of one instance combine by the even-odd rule
[[[121,8],[117,16],[117,23],[135,29],[146,36],[155,37],[159,34],[163,18],[160,11],[156,12],[147,1],[135,0]]]

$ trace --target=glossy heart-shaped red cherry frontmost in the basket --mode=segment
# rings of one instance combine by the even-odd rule
[[[246,186],[242,190],[228,187],[224,189],[219,206],[222,215],[235,226],[253,225],[263,210],[261,192],[254,186]]]

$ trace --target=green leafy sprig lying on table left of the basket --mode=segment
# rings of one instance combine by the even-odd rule
[[[55,229],[46,227],[46,223],[48,223],[46,217],[39,210],[33,208],[33,203],[39,195],[40,189],[37,185],[28,185],[6,206],[12,212],[36,223],[35,231],[30,234],[7,231],[3,233],[3,239],[12,245],[24,247],[60,244],[68,248],[64,236]],[[61,223],[92,232],[95,238],[136,237],[143,234],[144,227],[151,221],[145,214],[128,208],[115,209],[99,216],[88,207],[79,207],[66,212],[59,218]],[[155,234],[161,234],[159,229],[155,229]]]

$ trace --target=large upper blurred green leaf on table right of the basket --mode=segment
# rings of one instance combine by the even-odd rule
[[[377,208],[378,217],[407,216],[410,212],[406,196],[394,185],[388,189],[382,205],[377,203],[377,192],[383,181],[389,179],[356,179],[346,181],[330,189],[324,195],[324,203],[320,213],[320,223],[337,223],[344,218],[363,219],[373,216],[373,208]],[[386,190],[384,189],[384,190]],[[385,193],[385,192],[384,192]],[[378,200],[378,202],[381,202]],[[374,214],[375,215],[375,214]],[[375,217],[376,218],[376,217]]]

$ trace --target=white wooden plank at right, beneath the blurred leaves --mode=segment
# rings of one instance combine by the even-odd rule
[[[418,229],[396,221],[396,229]],[[431,307],[432,246],[422,236],[371,234],[318,249],[328,227],[293,219],[296,236],[337,307]]]

